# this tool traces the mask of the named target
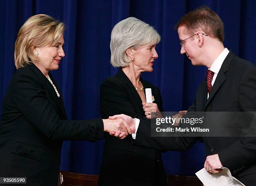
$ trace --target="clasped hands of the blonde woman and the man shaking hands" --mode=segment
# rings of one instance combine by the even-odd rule
[[[110,135],[120,139],[124,139],[136,130],[135,119],[124,114],[110,116],[109,119],[102,120],[104,132],[109,132]]]

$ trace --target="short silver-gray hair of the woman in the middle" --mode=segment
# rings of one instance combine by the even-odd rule
[[[127,66],[132,60],[125,51],[132,47],[139,48],[141,45],[155,45],[161,40],[161,36],[149,24],[130,17],[117,23],[111,33],[110,63],[114,67]]]

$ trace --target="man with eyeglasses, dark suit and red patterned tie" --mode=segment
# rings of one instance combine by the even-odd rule
[[[185,14],[175,28],[179,34],[180,53],[186,54],[192,65],[208,68],[206,79],[198,87],[188,113],[256,111],[256,66],[224,48],[224,26],[218,14],[203,6]],[[129,121],[123,115],[115,117]],[[208,172],[218,173],[220,169],[217,168],[225,166],[246,186],[255,186],[255,137],[157,138],[151,137],[149,123],[140,123],[136,124],[133,145],[159,150],[186,150],[197,140],[202,140],[207,154],[204,167]]]

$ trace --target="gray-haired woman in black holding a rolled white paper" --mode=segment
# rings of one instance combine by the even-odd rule
[[[111,64],[120,67],[120,70],[102,82],[102,118],[123,113],[148,120],[150,112],[163,111],[159,89],[141,78],[142,72],[153,71],[155,59],[158,58],[156,44],[159,42],[157,31],[137,18],[130,17],[115,25],[110,42]],[[152,89],[154,103],[145,103],[145,88]],[[133,146],[131,135],[124,140],[105,135],[99,186],[110,185],[166,186],[161,152]]]

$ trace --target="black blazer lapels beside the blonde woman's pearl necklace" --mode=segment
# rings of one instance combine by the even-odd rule
[[[57,90],[60,94],[60,97],[57,97],[57,94],[54,90],[54,87],[52,86],[52,84],[49,82],[49,80],[44,76],[44,74],[36,67],[36,65],[31,64],[30,65],[31,70],[33,71],[33,73],[38,77],[39,81],[44,85],[44,87],[46,88],[46,91],[49,95],[49,100],[54,100],[53,107],[55,108],[55,110],[58,108],[59,110],[61,110],[62,114],[66,117],[66,112],[65,112],[65,108],[64,108],[64,104],[63,104],[63,99],[62,99],[62,95],[60,93],[60,89],[58,87],[58,85],[55,83],[53,76],[51,76],[51,74],[49,73],[49,76],[52,80],[52,82],[55,84],[55,86],[57,87]],[[57,107],[55,107],[55,105],[57,105]],[[57,110],[56,110],[57,111]],[[57,112],[58,113],[58,112]]]

